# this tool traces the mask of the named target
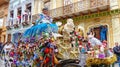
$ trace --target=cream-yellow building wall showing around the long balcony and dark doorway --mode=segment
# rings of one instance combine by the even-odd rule
[[[51,9],[55,9],[58,7],[62,7],[63,6],[63,2],[64,0],[51,0]],[[73,3],[80,1],[80,0],[73,0]],[[38,5],[37,3],[41,4]],[[39,7],[39,9],[38,9]],[[43,2],[40,2],[40,0],[35,0],[35,8],[34,8],[34,14],[40,13],[41,12],[41,8],[43,7]],[[110,9],[118,9],[120,8],[120,0],[115,0],[114,2],[111,0],[110,2]],[[107,24],[108,25],[108,39],[109,39],[109,44],[110,47],[114,46],[114,42],[119,42],[120,43],[120,16],[115,17],[102,17],[100,18],[99,21],[95,21],[95,18],[93,19],[89,19],[89,20],[83,20],[80,22],[77,22],[81,25],[84,26],[85,31],[84,33],[87,33],[88,28],[90,26],[95,26],[95,25],[104,25]]]

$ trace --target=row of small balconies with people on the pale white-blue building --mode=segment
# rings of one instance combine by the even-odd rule
[[[29,14],[22,14],[20,16],[17,16],[15,18],[10,17],[8,19],[8,23],[6,25],[6,28],[8,30],[12,29],[12,28],[19,28],[21,26],[27,26],[29,24],[31,24],[31,13]]]

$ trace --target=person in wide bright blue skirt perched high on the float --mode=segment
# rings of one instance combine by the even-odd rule
[[[23,37],[36,37],[37,35],[42,35],[42,32],[45,33],[57,33],[58,26],[53,24],[52,18],[49,16],[48,8],[43,8],[42,14],[39,15],[39,19],[36,20],[36,23],[31,28],[27,29],[23,33]]]

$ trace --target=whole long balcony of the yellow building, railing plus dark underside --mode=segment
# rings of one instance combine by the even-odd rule
[[[50,10],[50,15],[54,19],[86,15],[90,13],[109,10],[110,0],[83,0],[63,7]]]

